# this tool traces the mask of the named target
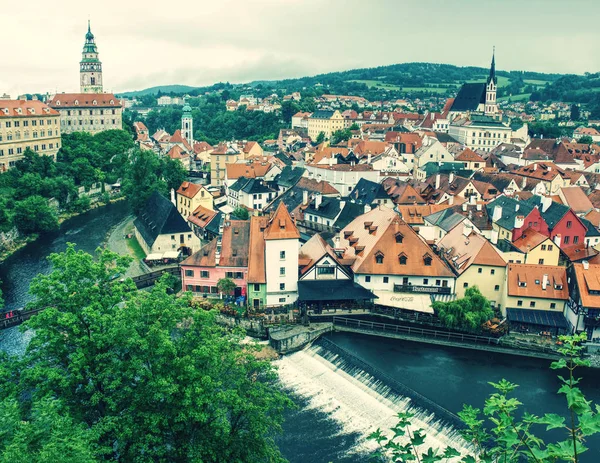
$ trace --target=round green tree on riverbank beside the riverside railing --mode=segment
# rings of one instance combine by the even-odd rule
[[[494,316],[494,311],[477,286],[467,288],[465,296],[450,302],[434,302],[433,310],[446,328],[477,330]]]

